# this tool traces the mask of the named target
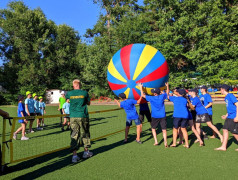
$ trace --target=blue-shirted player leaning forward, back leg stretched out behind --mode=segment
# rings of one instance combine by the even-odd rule
[[[196,116],[196,130],[198,132],[198,134],[201,136],[201,123],[206,123],[208,125],[208,127],[210,127],[213,131],[215,131],[215,133],[219,136],[221,142],[223,141],[223,137],[221,135],[221,133],[218,131],[218,129],[216,128],[216,126],[214,126],[211,122],[211,119],[208,115],[207,109],[203,106],[202,102],[200,101],[200,99],[197,97],[197,93],[198,90],[192,89],[191,90],[191,103],[193,105],[193,107],[196,110],[197,116]]]

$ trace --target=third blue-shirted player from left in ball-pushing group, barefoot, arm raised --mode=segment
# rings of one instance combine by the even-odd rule
[[[167,87],[169,89],[169,87]],[[183,134],[185,145],[184,147],[189,148],[188,144],[188,108],[187,108],[187,99],[184,97],[186,91],[184,89],[177,90],[177,96],[168,96],[168,100],[174,104],[174,113],[173,113],[173,144],[170,147],[176,147],[176,141],[178,137],[178,129],[181,128]]]

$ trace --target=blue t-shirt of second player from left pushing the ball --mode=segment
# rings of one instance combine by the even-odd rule
[[[161,94],[158,96],[146,96],[146,100],[151,104],[151,117],[152,118],[164,118],[166,117],[164,100],[167,98],[167,94]]]

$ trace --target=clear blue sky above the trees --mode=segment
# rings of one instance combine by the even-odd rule
[[[0,0],[0,9],[7,8],[11,0]],[[80,36],[86,33],[88,28],[93,28],[100,13],[103,10],[93,0],[23,0],[30,9],[40,7],[47,19],[54,21],[57,25],[67,24],[78,31]],[[143,4],[143,0],[138,0]],[[0,58],[0,66],[2,60]]]

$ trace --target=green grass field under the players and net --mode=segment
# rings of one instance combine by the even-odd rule
[[[116,106],[91,106],[89,111],[113,109]],[[16,107],[1,107],[11,116],[16,116]],[[172,142],[173,106],[166,105],[168,121],[168,143]],[[224,120],[220,118],[226,113],[225,105],[213,106],[214,124],[222,132]],[[58,114],[57,107],[48,106],[47,114]],[[92,138],[115,132],[125,127],[123,110],[92,114]],[[1,121],[2,122],[2,121]],[[70,143],[70,132],[61,132],[59,118],[46,119],[47,127],[43,131],[27,134],[29,141],[14,141],[14,158],[34,155],[41,151],[50,151],[64,147]],[[17,123],[17,127],[19,124]],[[35,127],[35,124],[34,124]],[[2,126],[1,129],[2,131]],[[203,130],[211,135],[210,129]],[[8,128],[9,132],[9,128]],[[161,132],[158,129],[158,132]],[[8,134],[9,135],[9,134]],[[62,150],[43,157],[10,164],[7,174],[0,179],[237,179],[238,148],[233,137],[230,137],[227,152],[213,149],[220,146],[219,139],[205,140],[205,147],[194,144],[195,136],[189,129],[191,148],[182,146],[165,149],[162,134],[159,133],[159,146],[153,146],[154,140],[145,123],[142,133],[142,145],[134,142],[135,128],[130,130],[130,143],[123,144],[124,132],[93,141],[94,156],[77,164],[71,163],[71,154]],[[20,138],[20,135],[18,135]],[[8,151],[8,150],[7,150]],[[82,156],[83,148],[79,150]]]

